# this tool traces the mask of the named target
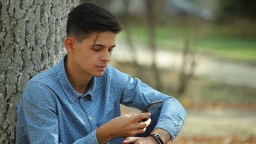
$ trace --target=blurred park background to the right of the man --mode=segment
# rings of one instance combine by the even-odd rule
[[[174,144],[256,143],[256,1],[80,0],[123,26],[112,66],[174,96],[187,119]],[[122,106],[122,113],[139,113]]]

